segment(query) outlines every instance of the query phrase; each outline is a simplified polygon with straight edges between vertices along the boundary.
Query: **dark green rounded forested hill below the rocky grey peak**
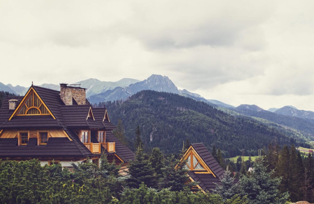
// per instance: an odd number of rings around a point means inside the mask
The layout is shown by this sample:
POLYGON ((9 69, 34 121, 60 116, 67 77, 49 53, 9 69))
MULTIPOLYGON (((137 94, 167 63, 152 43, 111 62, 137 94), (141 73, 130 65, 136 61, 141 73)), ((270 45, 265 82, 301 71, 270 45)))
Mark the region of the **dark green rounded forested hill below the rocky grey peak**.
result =
POLYGON ((138 125, 145 147, 159 147, 165 153, 178 152, 187 139, 191 143, 203 142, 208 149, 215 145, 223 150, 225 157, 239 155, 242 150, 257 155, 258 149, 267 147, 273 140, 279 145, 307 146, 305 140, 284 135, 252 118, 227 115, 178 94, 144 90, 125 102, 107 102, 106 107, 113 124, 122 120, 131 148, 138 125))

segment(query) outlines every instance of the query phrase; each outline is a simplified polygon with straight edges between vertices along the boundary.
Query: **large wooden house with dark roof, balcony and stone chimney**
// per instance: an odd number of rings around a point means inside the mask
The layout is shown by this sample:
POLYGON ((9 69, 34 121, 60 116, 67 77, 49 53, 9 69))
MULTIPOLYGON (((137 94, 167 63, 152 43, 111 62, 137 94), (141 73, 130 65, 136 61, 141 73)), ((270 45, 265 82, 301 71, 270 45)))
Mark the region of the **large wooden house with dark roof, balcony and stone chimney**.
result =
POLYGON ((106 108, 93 108, 86 89, 60 84, 60 91, 32 86, 8 96, 0 109, 0 159, 39 159, 41 164, 108 160, 125 166, 134 153, 111 132, 106 108))

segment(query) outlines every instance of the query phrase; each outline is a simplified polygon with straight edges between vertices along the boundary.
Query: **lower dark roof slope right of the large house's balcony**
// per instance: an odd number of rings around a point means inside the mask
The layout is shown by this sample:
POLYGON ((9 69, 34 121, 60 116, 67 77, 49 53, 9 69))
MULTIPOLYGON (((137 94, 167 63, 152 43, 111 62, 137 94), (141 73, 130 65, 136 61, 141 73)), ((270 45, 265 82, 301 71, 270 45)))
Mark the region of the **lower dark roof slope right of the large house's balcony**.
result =
POLYGON ((124 161, 134 160, 135 154, 127 148, 111 131, 106 132, 106 141, 116 143, 116 154, 124 161))

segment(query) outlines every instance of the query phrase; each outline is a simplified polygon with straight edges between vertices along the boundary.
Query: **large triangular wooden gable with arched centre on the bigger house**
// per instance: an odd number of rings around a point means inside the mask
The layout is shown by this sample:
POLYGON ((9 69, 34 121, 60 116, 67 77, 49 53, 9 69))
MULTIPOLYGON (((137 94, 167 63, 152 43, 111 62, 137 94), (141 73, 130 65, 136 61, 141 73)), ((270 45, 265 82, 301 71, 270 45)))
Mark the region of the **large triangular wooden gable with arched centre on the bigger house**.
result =
POLYGON ((10 116, 9 121, 16 115, 51 115, 53 119, 56 119, 32 86, 10 116))

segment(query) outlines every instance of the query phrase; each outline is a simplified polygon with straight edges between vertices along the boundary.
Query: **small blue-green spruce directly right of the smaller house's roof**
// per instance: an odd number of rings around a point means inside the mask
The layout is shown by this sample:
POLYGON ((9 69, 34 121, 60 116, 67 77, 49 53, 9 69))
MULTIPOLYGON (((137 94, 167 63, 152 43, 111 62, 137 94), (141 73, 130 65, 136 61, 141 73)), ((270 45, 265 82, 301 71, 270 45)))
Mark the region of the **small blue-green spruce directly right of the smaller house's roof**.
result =
POLYGON ((216 184, 216 188, 214 189, 214 193, 218 193, 223 198, 223 201, 232 198, 236 194, 234 178, 230 174, 231 172, 227 167, 223 177, 220 179, 221 184, 216 184))

